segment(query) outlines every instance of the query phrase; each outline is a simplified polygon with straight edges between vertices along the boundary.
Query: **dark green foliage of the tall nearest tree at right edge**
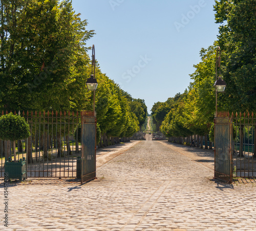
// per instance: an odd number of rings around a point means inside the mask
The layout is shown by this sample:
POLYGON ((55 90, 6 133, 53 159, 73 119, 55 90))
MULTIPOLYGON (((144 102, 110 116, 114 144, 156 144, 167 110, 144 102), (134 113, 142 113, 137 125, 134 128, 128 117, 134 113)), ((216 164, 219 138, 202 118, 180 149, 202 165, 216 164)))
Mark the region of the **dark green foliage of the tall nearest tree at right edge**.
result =
POLYGON ((256 2, 216 1, 215 18, 220 23, 219 44, 223 51, 223 79, 227 83, 226 110, 256 109, 256 2))

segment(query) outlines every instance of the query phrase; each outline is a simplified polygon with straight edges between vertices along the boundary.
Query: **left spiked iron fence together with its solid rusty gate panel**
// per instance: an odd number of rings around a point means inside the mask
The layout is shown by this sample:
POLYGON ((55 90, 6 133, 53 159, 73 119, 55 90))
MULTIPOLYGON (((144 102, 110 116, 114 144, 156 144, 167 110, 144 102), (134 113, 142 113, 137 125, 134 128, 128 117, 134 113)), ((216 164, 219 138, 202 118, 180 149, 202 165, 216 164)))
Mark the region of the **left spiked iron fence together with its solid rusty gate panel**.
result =
MULTIPOLYGON (((20 116, 29 123, 31 136, 17 141, 15 154, 17 159, 26 158, 27 177, 79 178, 82 175, 82 182, 95 178, 96 117, 93 111, 27 111, 20 116)), ((5 143, 0 141, 0 178, 4 177, 8 159, 5 143)))

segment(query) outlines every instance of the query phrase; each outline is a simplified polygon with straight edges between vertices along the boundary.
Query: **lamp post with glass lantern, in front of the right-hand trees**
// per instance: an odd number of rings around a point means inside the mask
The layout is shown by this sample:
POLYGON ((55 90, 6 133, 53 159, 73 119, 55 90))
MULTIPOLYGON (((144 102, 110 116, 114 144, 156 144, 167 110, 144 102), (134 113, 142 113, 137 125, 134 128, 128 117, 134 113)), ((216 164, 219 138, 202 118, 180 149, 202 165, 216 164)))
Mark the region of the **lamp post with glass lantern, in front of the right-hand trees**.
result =
POLYGON ((217 117, 217 96, 218 93, 223 93, 226 87, 226 82, 220 77, 221 74, 221 49, 220 47, 217 48, 217 54, 216 54, 216 65, 215 65, 215 83, 214 87, 216 89, 216 115, 217 117), (218 56, 219 55, 219 56, 218 56), (218 67, 219 67, 219 77, 218 77, 218 67))

